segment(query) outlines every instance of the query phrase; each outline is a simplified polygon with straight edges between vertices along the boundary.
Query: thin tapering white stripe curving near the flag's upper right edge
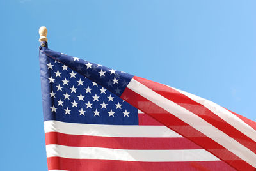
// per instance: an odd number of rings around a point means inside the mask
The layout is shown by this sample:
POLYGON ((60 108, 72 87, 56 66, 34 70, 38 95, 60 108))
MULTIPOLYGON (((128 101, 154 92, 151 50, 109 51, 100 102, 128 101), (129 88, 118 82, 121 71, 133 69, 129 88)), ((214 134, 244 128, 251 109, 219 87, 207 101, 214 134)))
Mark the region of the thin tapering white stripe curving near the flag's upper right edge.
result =
POLYGON ((182 91, 179 89, 175 89, 175 90, 188 96, 189 98, 196 101, 197 103, 204 105, 206 108, 211 110, 211 112, 218 115, 218 117, 220 117, 230 125, 234 126, 234 128, 241 131, 241 133, 244 133, 244 135, 247 135, 247 137, 250 137, 252 140, 256 142, 256 131, 251 126, 246 124, 242 119, 240 119, 236 115, 229 112, 227 109, 221 107, 220 105, 217 105, 216 103, 213 103, 212 101, 206 100, 204 98, 200 98, 199 96, 188 93, 186 91, 182 91))

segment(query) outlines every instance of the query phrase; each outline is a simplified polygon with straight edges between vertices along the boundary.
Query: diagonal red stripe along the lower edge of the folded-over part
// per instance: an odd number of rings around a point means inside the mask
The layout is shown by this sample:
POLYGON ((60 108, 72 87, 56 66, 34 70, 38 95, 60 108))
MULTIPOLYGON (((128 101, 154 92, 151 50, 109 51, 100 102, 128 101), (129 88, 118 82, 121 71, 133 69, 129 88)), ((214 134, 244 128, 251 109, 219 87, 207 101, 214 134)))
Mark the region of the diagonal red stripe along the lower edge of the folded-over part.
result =
POLYGON ((251 165, 241 160, 241 158, 237 157, 220 144, 214 142, 211 138, 206 137, 204 134, 195 130, 195 128, 184 123, 184 121, 180 120, 178 117, 175 117, 175 115, 168 113, 163 108, 158 107, 156 104, 143 98, 143 96, 140 96, 140 94, 131 91, 131 89, 126 88, 121 98, 183 137, 189 138, 189 140, 200 145, 237 170, 255 170, 251 165))

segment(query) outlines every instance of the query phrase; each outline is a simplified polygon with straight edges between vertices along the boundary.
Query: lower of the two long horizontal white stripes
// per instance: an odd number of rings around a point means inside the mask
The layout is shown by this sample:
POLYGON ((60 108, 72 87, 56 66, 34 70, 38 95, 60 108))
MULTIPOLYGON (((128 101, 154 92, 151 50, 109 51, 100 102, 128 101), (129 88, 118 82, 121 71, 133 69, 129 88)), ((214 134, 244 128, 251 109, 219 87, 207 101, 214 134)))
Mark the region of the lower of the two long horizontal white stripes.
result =
POLYGON ((100 147, 68 147, 46 145, 47 158, 58 156, 74 159, 105 159, 123 161, 219 161, 204 149, 189 150, 124 150, 100 147))

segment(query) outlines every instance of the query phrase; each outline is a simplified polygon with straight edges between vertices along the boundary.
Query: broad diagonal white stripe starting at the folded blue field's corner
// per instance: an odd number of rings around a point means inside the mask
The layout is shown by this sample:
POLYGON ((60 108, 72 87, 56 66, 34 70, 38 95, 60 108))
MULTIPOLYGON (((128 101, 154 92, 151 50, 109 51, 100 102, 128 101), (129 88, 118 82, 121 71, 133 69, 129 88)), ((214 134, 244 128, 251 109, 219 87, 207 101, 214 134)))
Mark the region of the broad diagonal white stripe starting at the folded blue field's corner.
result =
POLYGON ((190 126, 200 131, 201 133, 204 133, 204 135, 211 138, 215 142, 218 142, 218 144, 222 145, 230 152, 233 152, 234 154, 239 156, 239 158, 246 161, 253 167, 256 167, 256 155, 252 151, 250 151, 250 149, 239 144, 239 142, 229 137, 222 131, 218 130, 211 124, 207 123, 206 121, 204 121, 204 119, 198 117, 189 110, 186 110, 186 108, 180 107, 180 105, 177 105, 173 101, 164 98, 160 94, 152 91, 151 89, 134 79, 129 82, 127 87, 132 91, 140 94, 144 98, 152 101, 164 110, 175 115, 185 123, 188 123, 190 126))

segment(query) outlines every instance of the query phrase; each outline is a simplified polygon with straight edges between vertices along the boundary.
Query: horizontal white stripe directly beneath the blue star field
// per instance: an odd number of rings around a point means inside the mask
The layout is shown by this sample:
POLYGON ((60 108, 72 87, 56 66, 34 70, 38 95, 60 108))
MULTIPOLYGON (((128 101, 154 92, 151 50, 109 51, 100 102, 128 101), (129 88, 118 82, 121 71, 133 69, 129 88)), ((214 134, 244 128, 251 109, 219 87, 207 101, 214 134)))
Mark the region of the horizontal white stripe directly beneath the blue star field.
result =
POLYGON ((104 137, 182 137, 166 126, 77 124, 61 121, 45 121, 44 131, 104 137))

